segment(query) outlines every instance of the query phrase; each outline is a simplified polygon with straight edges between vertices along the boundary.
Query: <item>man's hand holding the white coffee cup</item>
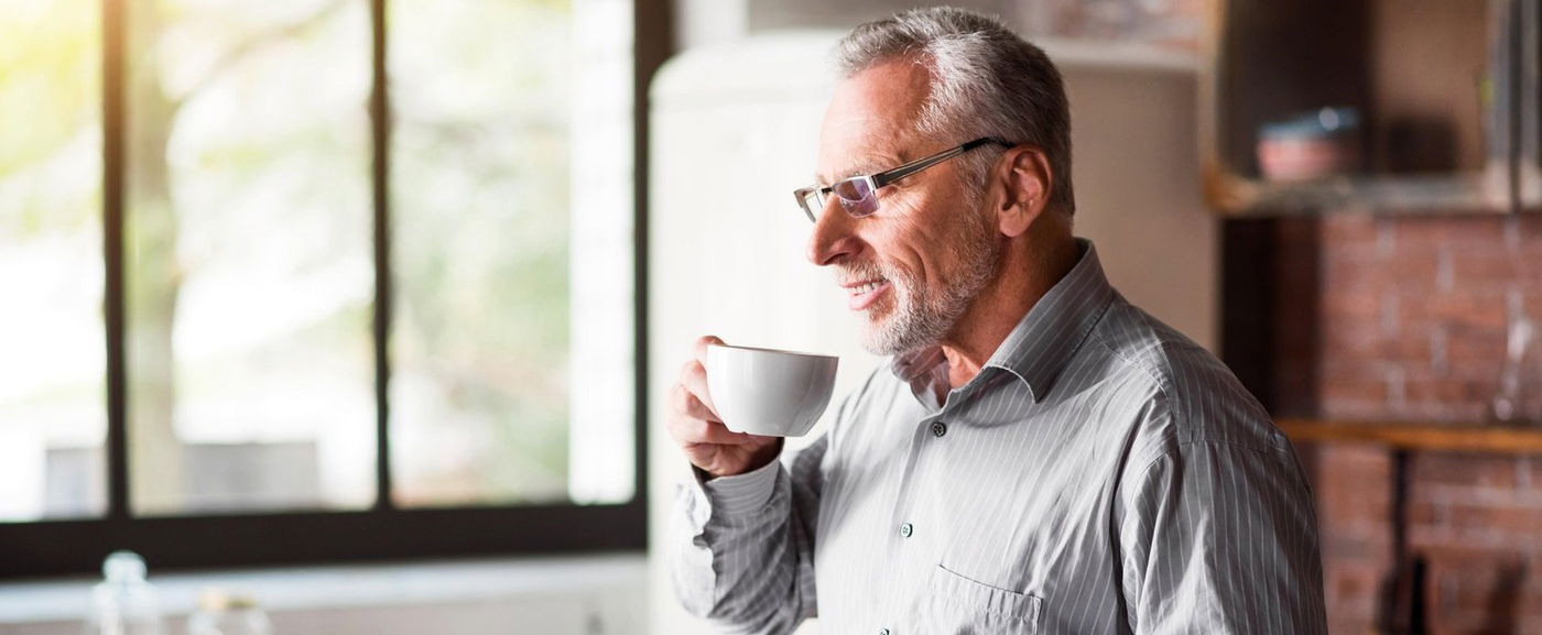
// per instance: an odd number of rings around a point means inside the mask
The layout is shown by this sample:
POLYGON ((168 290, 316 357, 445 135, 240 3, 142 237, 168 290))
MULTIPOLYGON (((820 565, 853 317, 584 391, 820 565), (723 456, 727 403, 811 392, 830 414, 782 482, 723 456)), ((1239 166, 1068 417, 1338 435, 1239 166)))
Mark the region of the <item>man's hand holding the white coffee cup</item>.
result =
POLYGON ((722 339, 705 336, 695 341, 695 359, 680 368, 680 381, 669 388, 669 436, 685 450, 686 459, 712 478, 752 472, 782 453, 782 438, 731 432, 717 418, 712 396, 706 390, 708 344, 722 339))

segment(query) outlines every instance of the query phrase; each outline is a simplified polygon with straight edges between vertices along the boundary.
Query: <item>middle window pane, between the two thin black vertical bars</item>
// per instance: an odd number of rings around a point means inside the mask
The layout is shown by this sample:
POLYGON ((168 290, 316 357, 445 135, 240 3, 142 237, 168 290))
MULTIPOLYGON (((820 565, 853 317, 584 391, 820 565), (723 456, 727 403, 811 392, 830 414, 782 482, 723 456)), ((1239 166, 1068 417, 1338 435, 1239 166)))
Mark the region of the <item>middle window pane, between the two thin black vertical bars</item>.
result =
POLYGON ((137 0, 126 40, 134 510, 369 506, 369 5, 137 0))

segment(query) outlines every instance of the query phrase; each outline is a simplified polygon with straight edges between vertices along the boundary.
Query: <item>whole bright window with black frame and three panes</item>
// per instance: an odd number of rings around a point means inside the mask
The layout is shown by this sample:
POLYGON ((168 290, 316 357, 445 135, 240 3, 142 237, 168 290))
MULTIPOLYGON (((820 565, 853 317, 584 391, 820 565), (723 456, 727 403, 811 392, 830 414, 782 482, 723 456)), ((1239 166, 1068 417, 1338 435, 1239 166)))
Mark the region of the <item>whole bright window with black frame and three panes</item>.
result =
POLYGON ((658 17, 0 12, 0 576, 645 544, 658 17))

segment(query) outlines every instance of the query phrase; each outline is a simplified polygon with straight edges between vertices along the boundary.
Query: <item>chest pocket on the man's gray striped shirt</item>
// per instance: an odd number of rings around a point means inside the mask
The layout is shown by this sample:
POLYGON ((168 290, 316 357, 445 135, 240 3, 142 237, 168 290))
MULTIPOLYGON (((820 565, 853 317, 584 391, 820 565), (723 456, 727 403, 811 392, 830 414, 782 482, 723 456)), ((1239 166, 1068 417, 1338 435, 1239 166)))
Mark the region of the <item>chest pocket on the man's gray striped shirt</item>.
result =
POLYGON ((927 583, 927 596, 917 603, 917 621, 925 633, 985 635, 1036 633, 1042 600, 1029 593, 996 589, 958 575, 938 564, 927 583))

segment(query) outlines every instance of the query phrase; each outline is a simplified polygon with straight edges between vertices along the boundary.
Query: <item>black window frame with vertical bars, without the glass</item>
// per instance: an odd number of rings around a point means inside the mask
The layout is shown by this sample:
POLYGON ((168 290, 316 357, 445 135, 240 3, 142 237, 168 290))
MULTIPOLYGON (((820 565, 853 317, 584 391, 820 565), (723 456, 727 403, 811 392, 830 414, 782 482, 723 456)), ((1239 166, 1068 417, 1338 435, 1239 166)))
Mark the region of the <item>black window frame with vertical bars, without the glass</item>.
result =
POLYGON ((375 254, 376 498, 365 510, 130 515, 125 322, 125 3, 102 0, 103 297, 106 325, 106 515, 0 522, 0 580, 100 570, 131 549, 154 570, 643 550, 648 544, 648 85, 672 49, 672 3, 632 0, 634 495, 621 504, 401 509, 390 499, 390 103, 387 0, 367 0, 372 31, 370 139, 375 254))

